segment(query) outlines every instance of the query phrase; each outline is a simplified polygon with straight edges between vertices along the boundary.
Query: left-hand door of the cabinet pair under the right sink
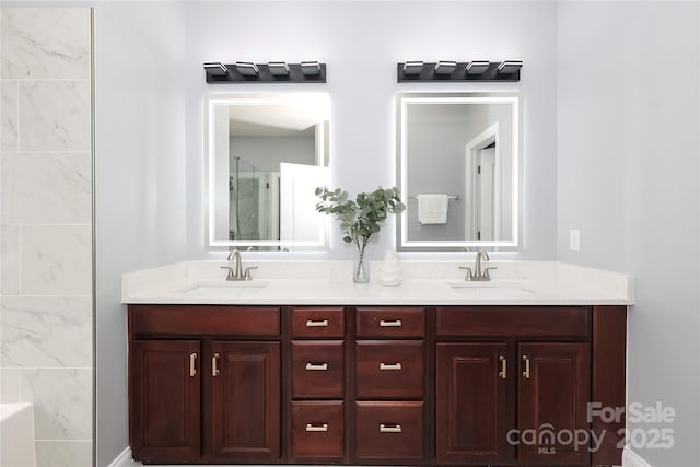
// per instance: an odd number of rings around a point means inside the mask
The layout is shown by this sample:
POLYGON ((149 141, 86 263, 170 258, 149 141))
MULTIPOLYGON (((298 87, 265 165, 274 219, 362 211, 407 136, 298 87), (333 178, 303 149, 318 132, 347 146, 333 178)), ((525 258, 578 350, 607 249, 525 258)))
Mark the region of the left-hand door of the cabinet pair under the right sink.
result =
POLYGON ((438 343, 438 464, 494 464, 513 458, 506 442, 506 345, 438 343))

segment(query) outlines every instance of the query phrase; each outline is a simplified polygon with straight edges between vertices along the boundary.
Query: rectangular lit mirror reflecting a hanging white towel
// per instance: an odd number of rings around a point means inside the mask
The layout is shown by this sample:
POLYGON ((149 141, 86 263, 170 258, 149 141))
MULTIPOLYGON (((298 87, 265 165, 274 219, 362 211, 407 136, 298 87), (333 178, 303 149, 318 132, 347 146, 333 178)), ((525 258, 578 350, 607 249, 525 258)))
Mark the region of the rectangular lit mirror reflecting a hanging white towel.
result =
POLYGON ((520 115, 515 94, 397 96, 397 249, 517 247, 520 115))

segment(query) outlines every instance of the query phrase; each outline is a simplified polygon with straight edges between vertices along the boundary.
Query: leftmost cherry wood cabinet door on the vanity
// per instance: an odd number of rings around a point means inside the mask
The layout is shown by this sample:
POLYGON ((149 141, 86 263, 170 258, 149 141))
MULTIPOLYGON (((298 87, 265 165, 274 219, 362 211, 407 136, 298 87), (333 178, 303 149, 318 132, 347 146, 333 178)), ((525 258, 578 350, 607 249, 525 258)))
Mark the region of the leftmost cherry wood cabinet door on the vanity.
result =
POLYGON ((133 458, 161 463, 200 456, 200 343, 135 340, 129 353, 133 458))

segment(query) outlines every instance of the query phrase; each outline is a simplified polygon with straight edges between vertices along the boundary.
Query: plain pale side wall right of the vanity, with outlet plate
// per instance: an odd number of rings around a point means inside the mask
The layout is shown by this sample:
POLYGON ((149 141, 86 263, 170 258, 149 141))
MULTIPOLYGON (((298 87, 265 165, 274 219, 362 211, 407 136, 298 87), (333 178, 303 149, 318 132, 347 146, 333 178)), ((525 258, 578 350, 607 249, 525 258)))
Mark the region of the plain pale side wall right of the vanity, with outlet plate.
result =
POLYGON ((562 2, 558 24, 558 258, 637 277, 628 404, 677 417, 672 450, 633 451, 698 466, 700 3, 562 2))

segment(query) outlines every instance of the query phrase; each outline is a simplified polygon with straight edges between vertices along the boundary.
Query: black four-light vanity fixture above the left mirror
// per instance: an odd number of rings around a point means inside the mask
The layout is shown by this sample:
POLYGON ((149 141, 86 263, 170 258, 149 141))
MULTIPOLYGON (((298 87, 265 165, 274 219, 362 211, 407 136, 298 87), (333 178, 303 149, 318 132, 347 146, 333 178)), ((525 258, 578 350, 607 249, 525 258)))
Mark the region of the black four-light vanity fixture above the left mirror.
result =
POLYGON ((302 61, 301 63, 236 61, 232 65, 208 61, 203 63, 203 67, 208 83, 326 82, 326 63, 317 61, 302 61))

